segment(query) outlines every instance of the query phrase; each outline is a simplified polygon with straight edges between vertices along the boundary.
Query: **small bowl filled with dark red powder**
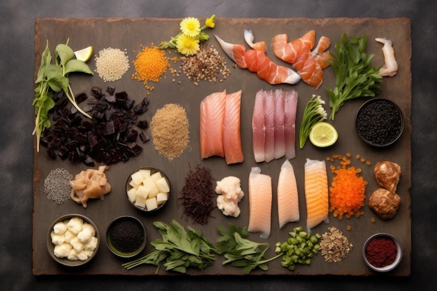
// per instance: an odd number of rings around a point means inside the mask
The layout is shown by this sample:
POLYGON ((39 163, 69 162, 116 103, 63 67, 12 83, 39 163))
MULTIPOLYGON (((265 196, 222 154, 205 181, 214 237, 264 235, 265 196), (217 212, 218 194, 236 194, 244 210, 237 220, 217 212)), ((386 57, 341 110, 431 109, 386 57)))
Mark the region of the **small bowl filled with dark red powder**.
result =
POLYGON ((364 243, 362 256, 374 271, 392 271, 402 260, 402 246, 392 234, 377 233, 364 243))

